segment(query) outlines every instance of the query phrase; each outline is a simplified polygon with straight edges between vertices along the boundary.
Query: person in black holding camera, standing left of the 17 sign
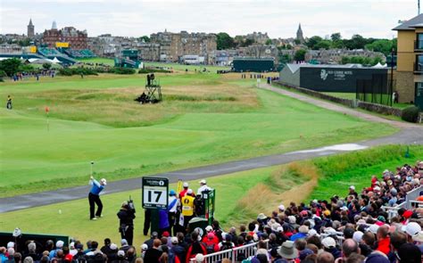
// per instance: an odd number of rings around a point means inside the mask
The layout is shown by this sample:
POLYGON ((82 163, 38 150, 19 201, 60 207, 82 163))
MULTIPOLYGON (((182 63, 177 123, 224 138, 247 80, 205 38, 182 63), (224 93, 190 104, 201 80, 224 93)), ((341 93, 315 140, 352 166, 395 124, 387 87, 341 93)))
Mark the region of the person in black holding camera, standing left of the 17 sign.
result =
POLYGON ((132 245, 134 239, 135 207, 132 201, 124 201, 118 212, 119 232, 122 239, 126 239, 132 245))

